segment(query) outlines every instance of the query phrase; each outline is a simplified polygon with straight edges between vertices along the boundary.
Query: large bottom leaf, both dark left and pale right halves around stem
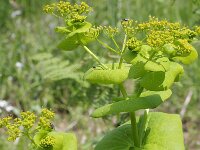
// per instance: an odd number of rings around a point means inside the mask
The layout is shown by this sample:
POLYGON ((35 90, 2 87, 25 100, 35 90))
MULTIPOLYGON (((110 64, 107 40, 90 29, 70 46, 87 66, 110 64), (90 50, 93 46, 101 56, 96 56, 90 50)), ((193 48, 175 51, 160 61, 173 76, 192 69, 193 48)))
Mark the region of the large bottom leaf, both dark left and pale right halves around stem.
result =
POLYGON ((146 138, 135 147, 130 124, 107 133, 95 150, 184 150, 182 124, 179 115, 149 113, 146 138))

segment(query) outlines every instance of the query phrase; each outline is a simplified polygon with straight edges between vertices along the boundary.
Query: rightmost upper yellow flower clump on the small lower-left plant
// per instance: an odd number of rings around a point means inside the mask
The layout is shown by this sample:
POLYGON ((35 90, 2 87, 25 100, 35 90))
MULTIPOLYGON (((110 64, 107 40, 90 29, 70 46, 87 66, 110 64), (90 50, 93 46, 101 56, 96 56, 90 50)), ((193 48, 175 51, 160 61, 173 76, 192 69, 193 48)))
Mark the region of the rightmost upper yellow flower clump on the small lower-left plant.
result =
POLYGON ((52 130, 51 120, 54 118, 54 116, 55 116, 54 112, 44 108, 39 118, 38 128, 44 130, 52 130))

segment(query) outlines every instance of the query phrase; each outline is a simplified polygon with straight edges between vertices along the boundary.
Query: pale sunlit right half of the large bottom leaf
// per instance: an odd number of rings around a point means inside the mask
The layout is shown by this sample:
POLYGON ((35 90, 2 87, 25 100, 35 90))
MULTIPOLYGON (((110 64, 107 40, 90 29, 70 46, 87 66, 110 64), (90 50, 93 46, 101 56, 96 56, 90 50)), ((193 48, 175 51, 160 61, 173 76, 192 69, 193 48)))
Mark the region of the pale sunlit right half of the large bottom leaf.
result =
POLYGON ((184 150, 182 123, 179 115, 150 113, 149 134, 144 150, 184 150))

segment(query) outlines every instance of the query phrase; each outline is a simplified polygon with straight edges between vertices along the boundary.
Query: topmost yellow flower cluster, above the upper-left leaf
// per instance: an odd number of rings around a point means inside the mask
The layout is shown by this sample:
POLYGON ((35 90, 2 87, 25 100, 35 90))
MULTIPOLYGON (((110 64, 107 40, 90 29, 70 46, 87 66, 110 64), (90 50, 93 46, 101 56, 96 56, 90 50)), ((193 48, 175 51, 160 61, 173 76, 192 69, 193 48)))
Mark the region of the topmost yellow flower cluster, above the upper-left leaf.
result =
POLYGON ((83 14, 88 14, 92 11, 92 8, 85 2, 82 2, 80 5, 72 5, 70 2, 60 1, 58 3, 46 5, 44 11, 57 17, 62 17, 65 21, 84 22, 87 16, 84 16, 83 14))

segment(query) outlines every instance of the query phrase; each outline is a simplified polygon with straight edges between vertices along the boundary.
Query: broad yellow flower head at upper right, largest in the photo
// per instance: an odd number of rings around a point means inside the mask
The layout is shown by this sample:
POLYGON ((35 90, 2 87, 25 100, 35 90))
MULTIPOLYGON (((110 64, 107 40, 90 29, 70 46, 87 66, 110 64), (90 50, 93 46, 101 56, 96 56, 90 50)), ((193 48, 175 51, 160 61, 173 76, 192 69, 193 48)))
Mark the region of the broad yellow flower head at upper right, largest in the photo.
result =
MULTIPOLYGON (((174 45, 174 56, 186 56, 189 55, 192 46, 189 42, 200 35, 200 27, 195 27, 195 30, 191 30, 186 26, 181 26, 180 23, 171 23, 167 20, 158 20, 155 17, 149 17, 147 22, 134 23, 132 20, 125 20, 121 22, 122 27, 127 29, 134 27, 134 32, 126 43, 126 46, 130 50, 136 51, 136 48, 143 44, 148 44, 153 49, 162 51, 165 44, 174 45), (143 38, 137 38, 137 36, 143 38)), ((127 34, 127 32, 125 31, 127 34)), ((128 35, 128 34, 127 34, 128 35)))

